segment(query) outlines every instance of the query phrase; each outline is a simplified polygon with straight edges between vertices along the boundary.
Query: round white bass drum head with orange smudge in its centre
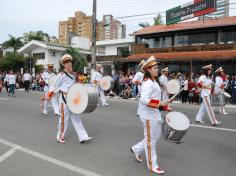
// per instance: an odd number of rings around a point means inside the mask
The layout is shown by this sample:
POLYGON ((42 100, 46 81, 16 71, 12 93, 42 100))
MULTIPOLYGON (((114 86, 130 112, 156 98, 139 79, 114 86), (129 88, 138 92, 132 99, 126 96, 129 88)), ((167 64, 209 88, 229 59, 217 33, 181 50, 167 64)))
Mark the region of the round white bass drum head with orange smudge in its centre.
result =
POLYGON ((96 90, 89 84, 74 84, 67 92, 67 106, 75 114, 83 113, 89 101, 89 93, 96 93, 96 90))

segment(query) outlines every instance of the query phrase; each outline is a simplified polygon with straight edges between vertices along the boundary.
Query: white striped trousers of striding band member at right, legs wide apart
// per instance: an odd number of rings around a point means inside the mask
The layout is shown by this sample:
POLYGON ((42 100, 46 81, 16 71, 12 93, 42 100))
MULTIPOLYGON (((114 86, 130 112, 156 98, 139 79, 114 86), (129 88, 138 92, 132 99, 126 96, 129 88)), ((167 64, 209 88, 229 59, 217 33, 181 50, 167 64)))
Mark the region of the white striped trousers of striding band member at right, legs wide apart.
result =
POLYGON ((208 117, 212 124, 216 124, 217 120, 215 118, 214 111, 211 107, 210 97, 205 96, 202 98, 202 104, 196 116, 196 121, 202 121, 204 118, 205 113, 207 112, 208 117))

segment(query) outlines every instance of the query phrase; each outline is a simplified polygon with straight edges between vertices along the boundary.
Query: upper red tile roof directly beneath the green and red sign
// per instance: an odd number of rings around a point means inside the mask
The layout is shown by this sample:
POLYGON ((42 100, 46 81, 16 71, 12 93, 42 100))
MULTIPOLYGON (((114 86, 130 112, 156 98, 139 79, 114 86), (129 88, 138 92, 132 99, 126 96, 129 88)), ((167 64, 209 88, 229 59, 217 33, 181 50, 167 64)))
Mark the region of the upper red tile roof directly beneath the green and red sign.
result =
POLYGON ((204 20, 204 21, 183 22, 171 25, 151 26, 137 31, 135 35, 162 33, 162 32, 179 31, 187 29, 209 28, 218 26, 231 26, 231 25, 236 25, 236 16, 204 20))

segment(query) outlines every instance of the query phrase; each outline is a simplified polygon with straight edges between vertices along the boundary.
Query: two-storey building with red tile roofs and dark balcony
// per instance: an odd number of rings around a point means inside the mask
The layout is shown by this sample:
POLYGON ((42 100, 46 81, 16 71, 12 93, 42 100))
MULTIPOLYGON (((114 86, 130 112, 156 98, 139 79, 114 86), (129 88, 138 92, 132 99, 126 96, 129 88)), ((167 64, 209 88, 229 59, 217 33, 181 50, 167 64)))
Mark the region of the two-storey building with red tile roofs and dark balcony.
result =
POLYGON ((135 33, 132 55, 124 61, 137 64, 154 55, 170 72, 199 72, 206 64, 235 73, 236 16, 204 21, 158 25, 135 33))

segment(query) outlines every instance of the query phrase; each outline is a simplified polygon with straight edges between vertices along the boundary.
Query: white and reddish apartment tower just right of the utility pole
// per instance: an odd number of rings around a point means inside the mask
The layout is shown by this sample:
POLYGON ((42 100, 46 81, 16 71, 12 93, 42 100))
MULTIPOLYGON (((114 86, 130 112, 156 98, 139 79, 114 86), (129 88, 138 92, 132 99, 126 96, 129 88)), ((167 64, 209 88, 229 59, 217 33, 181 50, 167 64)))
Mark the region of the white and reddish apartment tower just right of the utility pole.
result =
POLYGON ((126 26, 115 20, 112 15, 103 15, 103 21, 99 22, 98 26, 100 40, 126 38, 126 26))

